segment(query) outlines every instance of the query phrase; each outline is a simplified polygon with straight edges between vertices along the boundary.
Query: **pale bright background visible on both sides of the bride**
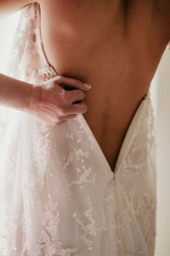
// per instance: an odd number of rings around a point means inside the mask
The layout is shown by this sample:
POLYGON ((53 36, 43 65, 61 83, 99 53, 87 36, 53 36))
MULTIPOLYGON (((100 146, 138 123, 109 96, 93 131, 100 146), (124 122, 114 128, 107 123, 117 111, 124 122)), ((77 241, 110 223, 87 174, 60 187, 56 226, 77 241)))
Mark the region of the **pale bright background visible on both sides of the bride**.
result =
MULTIPOLYGON (((9 49, 20 12, 0 20, 0 73, 5 73, 9 49)), ((156 114, 157 219, 156 254, 170 255, 170 51, 161 58, 151 83, 151 99, 156 114)))

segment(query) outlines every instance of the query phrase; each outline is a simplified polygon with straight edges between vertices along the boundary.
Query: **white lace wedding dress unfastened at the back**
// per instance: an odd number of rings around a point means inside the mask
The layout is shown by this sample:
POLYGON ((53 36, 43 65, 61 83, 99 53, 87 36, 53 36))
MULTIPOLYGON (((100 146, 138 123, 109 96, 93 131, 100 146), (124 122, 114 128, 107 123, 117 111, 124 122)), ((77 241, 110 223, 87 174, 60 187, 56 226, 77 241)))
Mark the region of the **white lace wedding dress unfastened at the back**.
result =
MULTIPOLYGON (((42 49, 40 10, 22 10, 8 75, 56 76, 42 49), (34 61, 32 61, 34 60, 34 61)), ((150 93, 111 172, 82 114, 54 126, 0 108, 0 256, 151 256, 156 155, 150 93)))

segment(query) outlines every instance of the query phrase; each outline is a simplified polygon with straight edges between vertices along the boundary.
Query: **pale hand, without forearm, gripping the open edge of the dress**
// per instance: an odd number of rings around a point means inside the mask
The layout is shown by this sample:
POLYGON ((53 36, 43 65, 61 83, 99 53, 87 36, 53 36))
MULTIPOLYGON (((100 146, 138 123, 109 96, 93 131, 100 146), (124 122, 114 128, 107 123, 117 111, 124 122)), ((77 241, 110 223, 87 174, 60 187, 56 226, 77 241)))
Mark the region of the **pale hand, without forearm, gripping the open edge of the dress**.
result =
POLYGON ((29 113, 48 124, 60 125, 88 111, 83 100, 86 96, 84 91, 89 88, 89 84, 60 75, 33 85, 29 113))

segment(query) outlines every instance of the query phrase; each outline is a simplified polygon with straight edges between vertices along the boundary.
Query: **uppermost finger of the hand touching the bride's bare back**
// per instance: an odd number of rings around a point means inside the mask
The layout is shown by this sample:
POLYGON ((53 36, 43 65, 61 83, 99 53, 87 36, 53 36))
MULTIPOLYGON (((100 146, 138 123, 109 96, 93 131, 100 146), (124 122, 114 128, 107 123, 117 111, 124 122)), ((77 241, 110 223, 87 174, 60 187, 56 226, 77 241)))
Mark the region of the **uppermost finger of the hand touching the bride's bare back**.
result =
POLYGON ((77 79, 71 79, 65 76, 56 76, 54 77, 54 81, 61 85, 61 87, 65 87, 64 89, 68 87, 69 89, 80 89, 80 90, 88 90, 90 89, 90 84, 82 83, 82 81, 77 79))

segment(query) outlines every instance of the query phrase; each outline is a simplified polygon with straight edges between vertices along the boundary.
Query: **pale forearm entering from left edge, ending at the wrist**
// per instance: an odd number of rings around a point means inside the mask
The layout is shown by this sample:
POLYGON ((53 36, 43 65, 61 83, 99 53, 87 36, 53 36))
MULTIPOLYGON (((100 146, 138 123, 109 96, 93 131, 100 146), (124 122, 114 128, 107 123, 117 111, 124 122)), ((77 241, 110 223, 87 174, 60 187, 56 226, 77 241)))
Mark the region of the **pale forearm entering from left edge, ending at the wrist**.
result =
POLYGON ((27 111, 30 105, 32 84, 0 73, 0 105, 27 111))

